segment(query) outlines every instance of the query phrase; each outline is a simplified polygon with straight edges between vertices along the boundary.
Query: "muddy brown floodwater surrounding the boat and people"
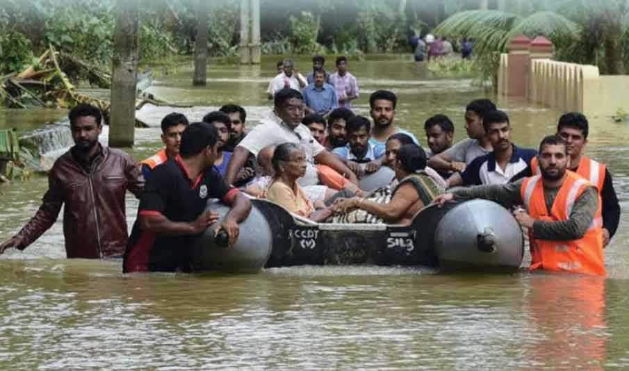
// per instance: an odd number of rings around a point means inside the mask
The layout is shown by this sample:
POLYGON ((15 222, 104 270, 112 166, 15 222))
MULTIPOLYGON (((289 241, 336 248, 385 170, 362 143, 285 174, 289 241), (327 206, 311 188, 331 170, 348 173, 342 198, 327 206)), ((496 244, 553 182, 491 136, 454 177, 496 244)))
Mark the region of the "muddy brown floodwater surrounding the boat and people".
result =
MULTIPOLYGON (((150 92, 193 108, 145 106, 133 158, 160 147, 161 118, 190 121, 222 104, 254 125, 270 108, 275 59, 257 67, 212 65, 191 85, 192 63, 158 69, 150 92), (168 72, 165 74, 164 72, 168 72)), ((327 61, 327 66, 333 63, 327 61)), ((297 60, 307 72, 308 60, 297 60)), ((491 94, 470 79, 440 79, 404 58, 349 64, 368 115, 378 89, 398 94, 395 122, 425 145, 423 122, 445 113, 466 137, 464 107, 491 94)), ((503 101, 512 140, 537 147, 557 110, 503 101)), ((34 129, 64 110, 0 110, 0 128, 34 129)), ((103 140, 106 142, 107 128, 103 140)), ((605 249, 605 279, 553 274, 439 274, 402 267, 290 267, 259 274, 138 274, 120 261, 66 260, 61 218, 24 252, 0 257, 0 369, 603 370, 629 368, 629 126, 590 117, 586 153, 606 163, 621 223, 605 249)), ((0 186, 0 240, 31 217, 47 180, 0 186)), ((138 201, 127 196, 129 228, 138 201)))

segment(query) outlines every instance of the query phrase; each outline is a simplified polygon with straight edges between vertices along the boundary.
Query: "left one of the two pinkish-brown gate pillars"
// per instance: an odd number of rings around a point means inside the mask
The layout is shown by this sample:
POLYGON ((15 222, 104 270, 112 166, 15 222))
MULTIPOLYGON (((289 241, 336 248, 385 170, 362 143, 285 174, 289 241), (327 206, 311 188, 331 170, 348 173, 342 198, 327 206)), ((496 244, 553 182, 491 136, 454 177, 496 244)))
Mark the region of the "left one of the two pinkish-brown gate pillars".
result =
POLYGON ((530 56, 528 46, 531 39, 526 35, 519 35, 509 40, 507 44, 507 81, 506 92, 508 97, 525 98, 528 89, 528 74, 530 68, 530 56))

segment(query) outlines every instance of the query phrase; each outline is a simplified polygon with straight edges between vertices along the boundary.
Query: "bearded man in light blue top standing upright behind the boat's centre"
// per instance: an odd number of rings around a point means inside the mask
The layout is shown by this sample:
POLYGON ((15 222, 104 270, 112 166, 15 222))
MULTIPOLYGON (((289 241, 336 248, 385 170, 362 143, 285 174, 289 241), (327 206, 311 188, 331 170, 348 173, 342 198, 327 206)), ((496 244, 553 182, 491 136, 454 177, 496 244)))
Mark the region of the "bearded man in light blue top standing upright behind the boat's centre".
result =
POLYGON ((369 142, 374 145, 378 152, 384 154, 386 140, 395 133, 404 133, 419 145, 413 133, 393 126, 395 117, 395 106, 398 104, 398 97, 389 90, 376 90, 369 97, 370 115, 373 119, 373 130, 369 142))

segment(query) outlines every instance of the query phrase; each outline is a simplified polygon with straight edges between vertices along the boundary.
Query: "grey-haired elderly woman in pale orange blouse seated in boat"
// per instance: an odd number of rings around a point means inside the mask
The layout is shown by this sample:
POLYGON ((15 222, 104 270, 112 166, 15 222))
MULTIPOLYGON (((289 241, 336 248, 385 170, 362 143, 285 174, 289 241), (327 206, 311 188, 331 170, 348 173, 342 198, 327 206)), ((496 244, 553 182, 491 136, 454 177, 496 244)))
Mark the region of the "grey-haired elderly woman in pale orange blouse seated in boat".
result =
POLYGON ((334 213, 334 205, 316 211, 297 183, 297 179, 306 174, 306 153, 302 148, 293 143, 278 145, 273 151, 271 163, 275 174, 266 190, 266 199, 314 222, 323 222, 334 213))

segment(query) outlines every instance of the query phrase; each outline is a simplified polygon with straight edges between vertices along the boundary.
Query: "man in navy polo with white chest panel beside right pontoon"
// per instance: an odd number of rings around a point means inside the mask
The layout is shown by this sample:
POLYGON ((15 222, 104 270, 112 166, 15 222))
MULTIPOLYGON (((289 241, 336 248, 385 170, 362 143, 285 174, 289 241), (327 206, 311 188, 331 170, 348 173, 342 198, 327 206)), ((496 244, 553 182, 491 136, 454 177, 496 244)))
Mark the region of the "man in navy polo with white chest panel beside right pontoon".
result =
POLYGON ((493 151, 475 158, 464 172, 452 174, 448 187, 506 184, 537 154, 534 149, 519 148, 511 142, 511 124, 503 111, 485 113, 482 124, 493 151))

